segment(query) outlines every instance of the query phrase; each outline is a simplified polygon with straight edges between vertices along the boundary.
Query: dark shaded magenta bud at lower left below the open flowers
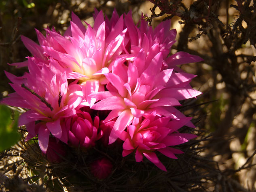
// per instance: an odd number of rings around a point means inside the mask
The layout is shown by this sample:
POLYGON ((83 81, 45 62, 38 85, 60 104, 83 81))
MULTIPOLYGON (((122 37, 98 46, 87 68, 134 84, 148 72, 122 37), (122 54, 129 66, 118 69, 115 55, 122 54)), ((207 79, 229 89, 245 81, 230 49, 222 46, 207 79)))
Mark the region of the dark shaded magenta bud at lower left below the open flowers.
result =
POLYGON ((46 157, 50 162, 59 163, 62 161, 62 157, 66 155, 66 150, 61 141, 57 141, 56 138, 50 137, 49 145, 46 151, 46 157), (62 157, 61 157, 62 156, 62 157))

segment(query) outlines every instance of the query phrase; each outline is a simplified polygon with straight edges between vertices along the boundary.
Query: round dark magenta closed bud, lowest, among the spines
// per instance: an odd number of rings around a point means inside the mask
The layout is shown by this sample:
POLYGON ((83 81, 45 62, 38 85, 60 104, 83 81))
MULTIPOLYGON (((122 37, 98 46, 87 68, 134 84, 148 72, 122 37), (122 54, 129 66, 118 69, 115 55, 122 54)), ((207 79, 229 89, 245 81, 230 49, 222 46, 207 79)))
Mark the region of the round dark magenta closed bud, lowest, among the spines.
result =
POLYGON ((91 163, 91 173, 98 179, 106 179, 112 172, 112 168, 112 162, 105 157, 91 163))

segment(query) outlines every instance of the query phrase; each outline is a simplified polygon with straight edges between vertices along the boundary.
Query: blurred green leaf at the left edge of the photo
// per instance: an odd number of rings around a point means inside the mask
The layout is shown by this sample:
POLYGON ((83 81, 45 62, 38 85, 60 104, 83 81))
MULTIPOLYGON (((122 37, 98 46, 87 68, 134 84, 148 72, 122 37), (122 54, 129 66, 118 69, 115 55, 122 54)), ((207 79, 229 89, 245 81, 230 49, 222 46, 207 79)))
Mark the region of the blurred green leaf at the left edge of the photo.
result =
POLYGON ((19 113, 0 105, 0 151, 11 148, 21 138, 18 133, 19 113), (12 118, 13 116, 13 118, 12 118))

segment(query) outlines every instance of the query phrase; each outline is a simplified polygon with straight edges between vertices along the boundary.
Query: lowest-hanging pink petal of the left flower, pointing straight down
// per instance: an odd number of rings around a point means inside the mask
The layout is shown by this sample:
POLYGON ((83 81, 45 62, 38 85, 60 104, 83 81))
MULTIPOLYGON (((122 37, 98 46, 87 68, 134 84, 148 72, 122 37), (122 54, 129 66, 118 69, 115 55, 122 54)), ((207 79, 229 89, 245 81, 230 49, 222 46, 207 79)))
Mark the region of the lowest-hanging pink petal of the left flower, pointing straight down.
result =
POLYGON ((38 130, 38 143, 39 147, 44 154, 47 152, 48 143, 49 143, 49 134, 50 131, 45 124, 42 124, 38 130))

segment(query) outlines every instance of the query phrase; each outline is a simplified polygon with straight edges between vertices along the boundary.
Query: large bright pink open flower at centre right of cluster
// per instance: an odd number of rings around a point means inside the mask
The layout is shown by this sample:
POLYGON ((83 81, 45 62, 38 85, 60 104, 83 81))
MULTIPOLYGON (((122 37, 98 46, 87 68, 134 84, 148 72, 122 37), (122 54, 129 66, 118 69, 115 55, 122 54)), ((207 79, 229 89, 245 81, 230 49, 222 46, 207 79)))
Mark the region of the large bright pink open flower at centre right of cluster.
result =
MULTIPOLYGON (((158 45, 154 47, 157 49, 158 45)), ((159 116, 177 119, 167 107, 180 105, 180 100, 201 94, 189 85, 194 75, 174 73, 172 68, 162 70, 161 52, 155 53, 152 49, 147 54, 141 49, 136 57, 128 60, 128 66, 124 61, 116 59, 112 72, 105 74, 110 81, 107 84, 108 91, 90 95, 100 100, 92 109, 112 110, 104 122, 117 117, 109 143, 117 139, 115 132, 124 131, 134 117, 140 118, 144 113, 156 111, 159 116)))

